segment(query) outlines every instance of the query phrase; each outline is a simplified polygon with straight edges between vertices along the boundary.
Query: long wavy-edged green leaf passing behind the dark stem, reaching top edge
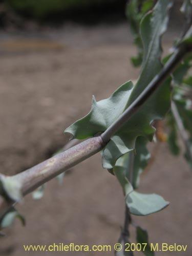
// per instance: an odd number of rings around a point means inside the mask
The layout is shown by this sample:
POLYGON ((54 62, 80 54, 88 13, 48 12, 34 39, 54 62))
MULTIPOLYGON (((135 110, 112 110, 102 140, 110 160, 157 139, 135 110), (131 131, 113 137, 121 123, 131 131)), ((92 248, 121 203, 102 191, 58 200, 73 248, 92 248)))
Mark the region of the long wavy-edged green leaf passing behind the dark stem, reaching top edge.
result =
MULTIPOLYGON (((165 10, 169 7, 169 2, 159 1, 154 11, 146 14, 141 21, 140 32, 144 46, 143 63, 140 77, 131 92, 127 106, 140 95, 162 69, 160 37, 166 29, 168 18, 165 10)), ((116 159, 133 150, 138 136, 152 140, 155 129, 151 124, 154 120, 162 119, 169 107, 170 78, 143 104, 142 109, 111 138, 103 150, 103 167, 112 168, 116 159)))

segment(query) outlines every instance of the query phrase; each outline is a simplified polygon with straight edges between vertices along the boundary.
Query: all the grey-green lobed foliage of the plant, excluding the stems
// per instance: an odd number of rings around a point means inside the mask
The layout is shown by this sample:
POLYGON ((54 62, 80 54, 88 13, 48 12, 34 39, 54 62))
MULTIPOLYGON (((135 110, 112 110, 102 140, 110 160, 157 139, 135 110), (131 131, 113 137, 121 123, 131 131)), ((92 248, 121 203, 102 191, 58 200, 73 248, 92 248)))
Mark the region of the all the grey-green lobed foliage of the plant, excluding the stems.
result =
MULTIPOLYGON (((135 85, 131 80, 125 82, 107 99, 97 102, 93 96, 91 111, 65 130, 65 133, 72 135, 72 139, 87 139, 105 132, 141 95, 148 84, 154 78, 158 78, 163 65, 175 56, 174 52, 179 49, 178 46, 187 48, 192 44, 192 26, 189 26, 192 19, 192 3, 185 0, 181 10, 186 17, 187 29, 176 40, 173 53, 162 60, 161 37, 167 28, 168 10, 171 6, 170 1, 166 0, 159 0, 155 6, 151 0, 142 3, 139 0, 132 0, 127 5, 126 12, 138 47, 138 56, 132 58, 132 62, 135 66, 141 65, 139 78, 135 85)), ((144 101, 142 108, 138 109, 129 121, 119 127, 102 150, 102 166, 115 175, 123 190, 127 210, 125 220, 129 220, 129 224, 135 226, 137 242, 147 244, 143 253, 148 256, 154 255, 148 245, 148 234, 146 230, 133 223, 131 214, 150 215, 162 210, 169 203, 157 194, 143 194, 136 189, 139 187, 140 174, 150 159, 147 143, 154 139, 156 129, 153 124, 165 116, 169 129, 167 142, 170 150, 174 155, 181 152, 178 134, 184 132, 184 155, 192 168, 192 110, 189 97, 192 92, 192 77, 189 75, 191 57, 191 54, 185 57, 172 76, 167 75, 161 87, 144 101)), ((61 176, 60 178, 62 179, 61 176)), ((1 196, 17 202, 22 198, 21 186, 22 184, 14 178, 0 175, 1 196)), ((34 198, 41 198, 42 188, 35 191, 34 198)), ((15 209, 10 208, 7 214, 0 217, 0 227, 7 227, 13 222, 14 217, 19 217, 24 223, 24 219, 15 209)), ((129 232, 125 234, 123 231, 119 238, 122 248, 125 243, 130 243, 129 232)), ((133 255, 133 252, 126 252, 123 249, 116 255, 133 255)))

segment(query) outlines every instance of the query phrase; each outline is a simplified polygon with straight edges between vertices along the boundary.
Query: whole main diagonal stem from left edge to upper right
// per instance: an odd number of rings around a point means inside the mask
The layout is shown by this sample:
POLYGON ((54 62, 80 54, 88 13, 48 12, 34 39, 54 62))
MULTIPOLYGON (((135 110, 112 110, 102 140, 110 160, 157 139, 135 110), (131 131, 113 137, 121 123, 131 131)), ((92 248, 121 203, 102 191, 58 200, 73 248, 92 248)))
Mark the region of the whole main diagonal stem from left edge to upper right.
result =
MULTIPOLYGON (((22 194, 27 195, 38 186, 62 173, 64 170, 71 168, 99 152, 121 126, 127 122, 132 115, 141 108, 142 104, 159 88, 160 84, 170 75, 183 56, 189 52, 191 48, 192 45, 180 46, 166 63, 162 71, 150 82, 150 84, 148 84, 140 96, 127 108, 127 110, 125 110, 125 112, 123 112, 117 121, 101 134, 101 136, 83 141, 76 146, 69 148, 65 152, 59 153, 54 157, 25 170, 23 173, 11 177, 0 174, 0 180, 2 176, 11 181, 19 182, 21 184, 22 194)), ((5 200, 6 199, 0 196, 0 212, 5 210, 5 200)))

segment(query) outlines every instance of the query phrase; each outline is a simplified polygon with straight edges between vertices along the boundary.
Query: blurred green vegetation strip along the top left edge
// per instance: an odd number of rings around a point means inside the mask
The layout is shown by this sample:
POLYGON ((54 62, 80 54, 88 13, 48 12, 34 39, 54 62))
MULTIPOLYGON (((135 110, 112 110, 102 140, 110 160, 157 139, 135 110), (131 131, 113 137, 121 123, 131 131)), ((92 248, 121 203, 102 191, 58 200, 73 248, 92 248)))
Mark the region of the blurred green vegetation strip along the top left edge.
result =
POLYGON ((45 19, 59 13, 67 14, 79 9, 119 6, 125 2, 125 0, 5 0, 6 5, 17 13, 36 19, 45 19))

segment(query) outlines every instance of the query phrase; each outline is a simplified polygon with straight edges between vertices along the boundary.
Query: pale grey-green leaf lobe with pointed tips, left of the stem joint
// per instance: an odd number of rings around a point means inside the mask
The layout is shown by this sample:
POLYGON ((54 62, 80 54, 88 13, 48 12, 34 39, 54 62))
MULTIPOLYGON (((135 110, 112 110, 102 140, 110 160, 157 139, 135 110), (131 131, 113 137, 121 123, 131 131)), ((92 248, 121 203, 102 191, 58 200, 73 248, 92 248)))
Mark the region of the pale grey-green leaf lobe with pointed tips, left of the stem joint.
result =
POLYGON ((65 133, 77 139, 86 139, 104 132, 123 113, 132 88, 132 81, 128 81, 108 99, 97 102, 93 96, 89 114, 69 126, 65 133))

